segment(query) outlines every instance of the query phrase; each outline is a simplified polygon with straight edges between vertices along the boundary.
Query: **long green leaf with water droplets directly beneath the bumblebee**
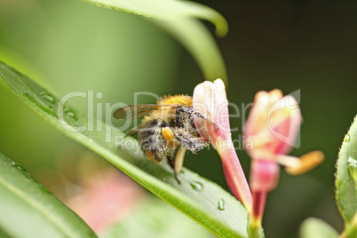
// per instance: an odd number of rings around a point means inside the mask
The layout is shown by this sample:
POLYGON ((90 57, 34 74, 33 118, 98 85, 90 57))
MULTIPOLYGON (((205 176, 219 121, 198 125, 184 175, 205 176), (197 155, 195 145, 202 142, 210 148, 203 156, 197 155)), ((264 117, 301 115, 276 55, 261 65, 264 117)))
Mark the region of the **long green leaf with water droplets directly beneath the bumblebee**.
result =
POLYGON ((149 162, 140 152, 136 139, 125 138, 125 133, 108 124, 115 107, 107 108, 107 123, 95 122, 65 102, 69 96, 87 97, 84 92, 68 93, 59 100, 28 76, 2 62, 0 76, 20 99, 59 131, 102 155, 212 233, 220 237, 247 237, 247 211, 240 202, 217 184, 192 171, 184 169, 178 175, 181 180, 178 184, 168 163, 149 162))

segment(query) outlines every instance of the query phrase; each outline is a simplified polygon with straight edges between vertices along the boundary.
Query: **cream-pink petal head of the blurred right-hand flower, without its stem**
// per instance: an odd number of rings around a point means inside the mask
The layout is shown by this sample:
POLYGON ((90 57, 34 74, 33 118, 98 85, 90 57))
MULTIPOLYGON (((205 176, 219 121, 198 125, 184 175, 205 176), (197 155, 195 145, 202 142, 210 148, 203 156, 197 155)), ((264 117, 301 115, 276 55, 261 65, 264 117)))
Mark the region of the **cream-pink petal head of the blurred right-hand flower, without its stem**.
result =
POLYGON ((273 158, 287 154, 294 146, 302 122, 298 102, 282 91, 258 91, 244 131, 245 139, 254 142, 247 150, 251 158, 273 158))

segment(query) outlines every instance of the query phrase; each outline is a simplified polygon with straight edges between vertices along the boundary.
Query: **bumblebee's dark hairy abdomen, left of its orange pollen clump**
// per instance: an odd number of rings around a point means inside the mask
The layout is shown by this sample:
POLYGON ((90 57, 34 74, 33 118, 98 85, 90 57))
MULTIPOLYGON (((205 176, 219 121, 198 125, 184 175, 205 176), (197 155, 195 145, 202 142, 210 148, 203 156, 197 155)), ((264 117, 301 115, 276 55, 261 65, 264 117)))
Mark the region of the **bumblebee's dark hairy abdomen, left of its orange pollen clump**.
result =
POLYGON ((151 161, 161 162, 170 155, 169 144, 162 134, 162 128, 167 125, 163 120, 147 121, 139 131, 140 147, 151 161))

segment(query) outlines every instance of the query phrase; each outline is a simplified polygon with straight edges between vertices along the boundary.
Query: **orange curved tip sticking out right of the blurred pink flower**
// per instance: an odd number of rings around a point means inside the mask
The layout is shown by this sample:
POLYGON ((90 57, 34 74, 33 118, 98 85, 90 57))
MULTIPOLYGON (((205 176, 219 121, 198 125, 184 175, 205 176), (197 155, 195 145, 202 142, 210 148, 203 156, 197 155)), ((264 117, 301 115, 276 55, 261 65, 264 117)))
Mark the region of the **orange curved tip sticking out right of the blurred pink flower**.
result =
POLYGON ((319 150, 312 151, 305 155, 302 155, 299 159, 300 164, 298 167, 295 166, 286 166, 285 171, 290 175, 300 175, 307 171, 311 171, 317 165, 322 163, 325 156, 319 150))

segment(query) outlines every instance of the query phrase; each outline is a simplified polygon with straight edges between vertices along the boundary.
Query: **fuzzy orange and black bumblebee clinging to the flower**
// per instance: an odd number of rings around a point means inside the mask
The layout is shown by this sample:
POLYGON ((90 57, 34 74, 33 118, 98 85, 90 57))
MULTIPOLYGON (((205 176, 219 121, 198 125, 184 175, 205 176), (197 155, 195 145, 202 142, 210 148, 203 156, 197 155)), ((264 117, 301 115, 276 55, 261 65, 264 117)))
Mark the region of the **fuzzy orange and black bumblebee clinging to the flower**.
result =
POLYGON ((138 135, 139 145, 150 161, 161 163, 167 158, 177 180, 186 149, 195 154, 209 145, 196 131, 194 117, 212 122, 207 116, 194 110, 190 96, 164 96, 157 104, 119 108, 113 116, 115 119, 126 120, 144 117, 141 124, 127 134, 138 135))

